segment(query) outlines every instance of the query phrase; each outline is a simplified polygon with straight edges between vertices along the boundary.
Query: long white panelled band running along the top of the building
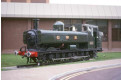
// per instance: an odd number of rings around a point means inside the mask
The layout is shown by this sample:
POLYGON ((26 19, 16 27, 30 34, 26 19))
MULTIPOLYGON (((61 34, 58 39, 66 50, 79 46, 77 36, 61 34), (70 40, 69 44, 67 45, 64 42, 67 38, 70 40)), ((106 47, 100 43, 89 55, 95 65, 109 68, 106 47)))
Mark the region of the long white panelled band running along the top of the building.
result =
POLYGON ((2 17, 121 19, 121 6, 1 3, 2 17))

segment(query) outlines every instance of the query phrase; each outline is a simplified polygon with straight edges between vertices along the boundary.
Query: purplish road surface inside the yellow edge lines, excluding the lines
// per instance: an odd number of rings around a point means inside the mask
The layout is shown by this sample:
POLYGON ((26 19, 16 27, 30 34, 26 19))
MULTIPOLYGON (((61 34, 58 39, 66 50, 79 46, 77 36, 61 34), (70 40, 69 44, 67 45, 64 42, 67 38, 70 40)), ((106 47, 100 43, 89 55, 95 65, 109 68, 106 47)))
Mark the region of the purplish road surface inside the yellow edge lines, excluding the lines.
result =
POLYGON ((121 80, 121 67, 89 72, 69 80, 121 80))

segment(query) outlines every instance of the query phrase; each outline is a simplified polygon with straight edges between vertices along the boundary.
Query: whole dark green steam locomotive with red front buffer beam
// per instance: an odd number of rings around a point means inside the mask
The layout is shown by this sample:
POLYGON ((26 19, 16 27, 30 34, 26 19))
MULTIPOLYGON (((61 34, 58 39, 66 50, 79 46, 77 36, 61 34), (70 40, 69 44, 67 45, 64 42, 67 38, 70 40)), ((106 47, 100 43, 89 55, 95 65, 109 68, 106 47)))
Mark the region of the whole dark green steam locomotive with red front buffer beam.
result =
POLYGON ((71 26, 64 31, 64 23, 57 21, 53 30, 40 30, 37 27, 38 19, 35 19, 34 29, 23 33, 23 42, 27 46, 15 51, 16 55, 27 57, 27 63, 33 60, 40 65, 47 61, 89 59, 102 51, 103 33, 98 26, 82 24, 78 29, 71 26))

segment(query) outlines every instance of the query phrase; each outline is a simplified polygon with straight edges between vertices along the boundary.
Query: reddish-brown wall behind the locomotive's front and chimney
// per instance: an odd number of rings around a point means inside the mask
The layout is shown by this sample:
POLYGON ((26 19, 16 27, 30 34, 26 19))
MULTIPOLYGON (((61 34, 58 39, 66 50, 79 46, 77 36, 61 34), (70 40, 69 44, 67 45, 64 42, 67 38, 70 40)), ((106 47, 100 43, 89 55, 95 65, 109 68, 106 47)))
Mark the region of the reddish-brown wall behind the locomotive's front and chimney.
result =
MULTIPOLYGON (((39 29, 52 29, 54 19, 40 19, 39 29)), ((2 18, 2 53, 12 53, 23 44, 23 32, 33 28, 32 19, 2 18)))

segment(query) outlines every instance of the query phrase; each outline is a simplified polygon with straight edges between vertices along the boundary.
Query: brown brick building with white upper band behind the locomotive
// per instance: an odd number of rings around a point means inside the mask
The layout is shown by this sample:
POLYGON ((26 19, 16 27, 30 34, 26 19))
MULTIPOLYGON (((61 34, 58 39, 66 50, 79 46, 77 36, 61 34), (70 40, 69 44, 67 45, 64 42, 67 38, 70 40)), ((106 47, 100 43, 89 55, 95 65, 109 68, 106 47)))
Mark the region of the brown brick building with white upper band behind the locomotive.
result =
POLYGON ((98 25, 104 32, 103 50, 121 51, 121 6, 49 4, 49 0, 1 0, 2 53, 23 46, 23 31, 33 28, 33 18, 40 19, 39 29, 52 29, 56 21, 65 27, 83 23, 98 25))

